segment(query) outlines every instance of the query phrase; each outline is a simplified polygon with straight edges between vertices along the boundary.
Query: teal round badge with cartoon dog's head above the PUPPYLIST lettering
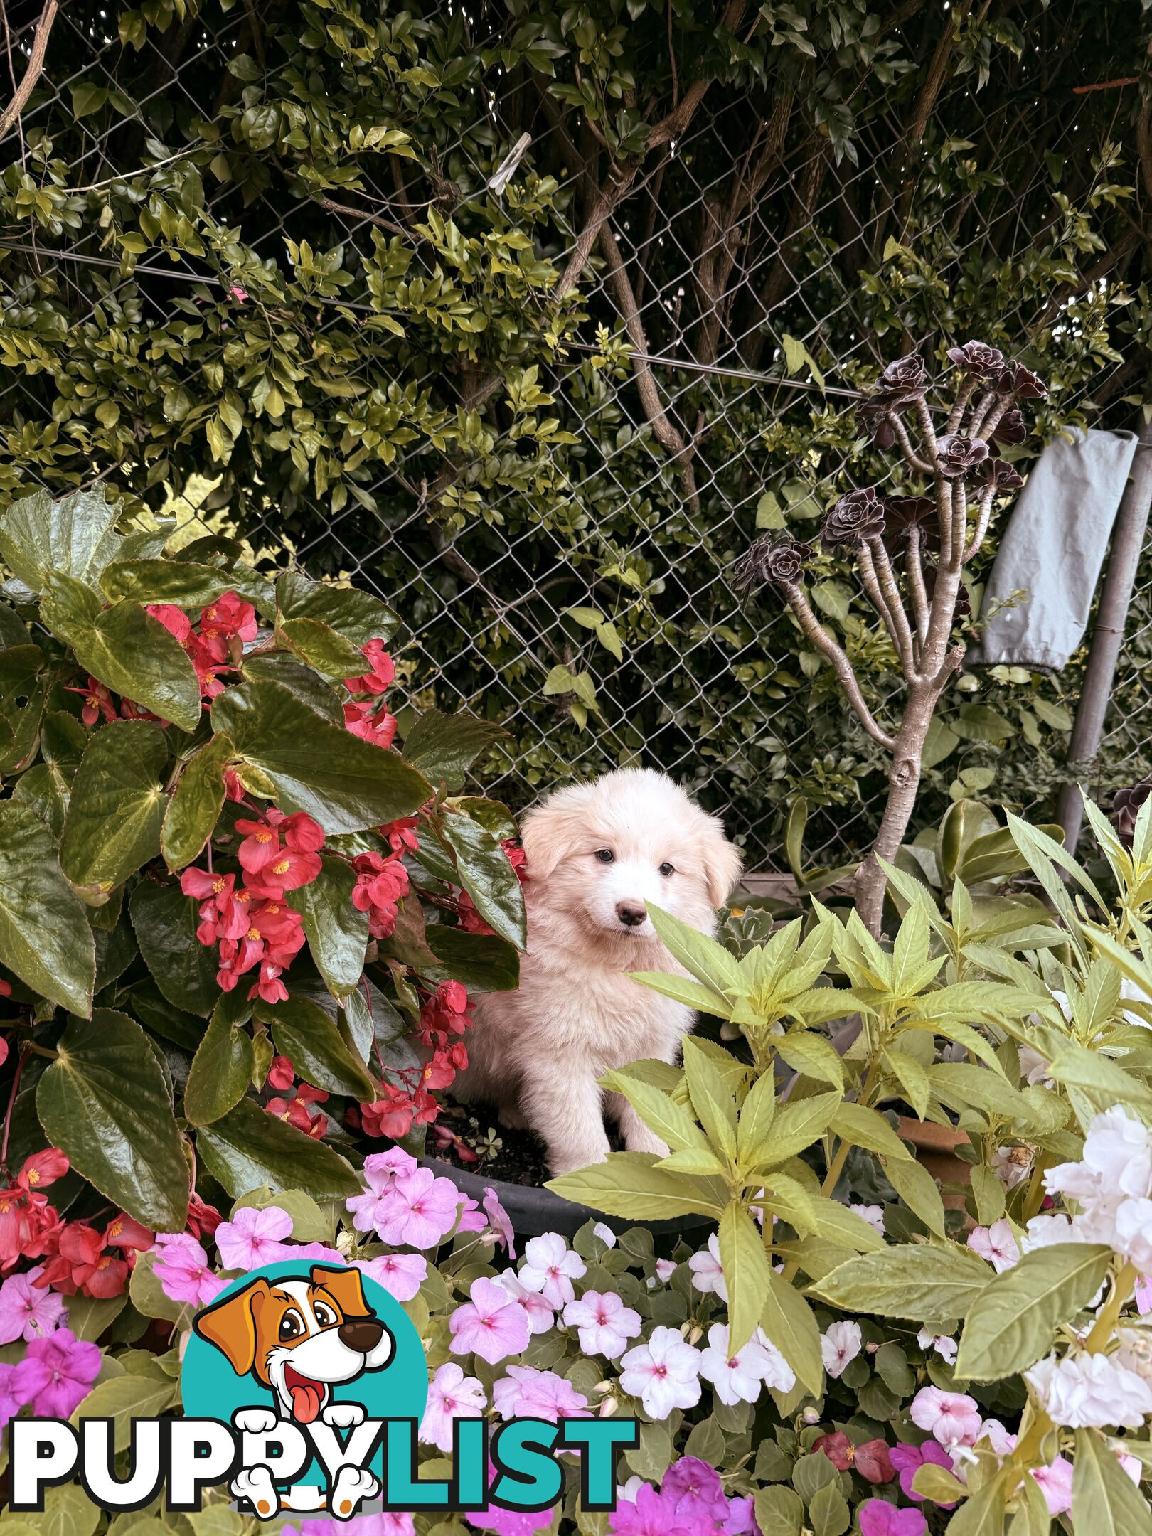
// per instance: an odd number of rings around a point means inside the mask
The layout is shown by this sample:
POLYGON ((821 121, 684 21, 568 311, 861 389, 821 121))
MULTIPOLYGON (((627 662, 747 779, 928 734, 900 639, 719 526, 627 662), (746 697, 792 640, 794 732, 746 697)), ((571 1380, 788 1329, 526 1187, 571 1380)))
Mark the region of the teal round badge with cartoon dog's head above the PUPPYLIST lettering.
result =
MULTIPOLYGON (((241 1428, 335 1427, 424 1416, 429 1364, 415 1324, 359 1269, 281 1261, 233 1279, 192 1322, 181 1399, 189 1418, 241 1428), (263 1410, 263 1412, 261 1412, 263 1410)), ((382 1479, 382 1452, 369 1464, 382 1479)), ((315 1458, 300 1484, 321 1484, 315 1458)))

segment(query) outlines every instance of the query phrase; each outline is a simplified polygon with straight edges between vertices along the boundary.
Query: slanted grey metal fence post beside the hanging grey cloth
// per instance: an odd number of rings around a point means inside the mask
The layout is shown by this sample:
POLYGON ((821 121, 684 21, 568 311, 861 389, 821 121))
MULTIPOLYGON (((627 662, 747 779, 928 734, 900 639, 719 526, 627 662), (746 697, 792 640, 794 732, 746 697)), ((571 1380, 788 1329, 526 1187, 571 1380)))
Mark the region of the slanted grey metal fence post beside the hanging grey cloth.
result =
MULTIPOLYGON (((1097 622, 1092 630, 1092 648, 1087 657, 1087 670, 1084 671, 1084 685, 1080 690, 1075 725, 1068 743, 1068 760, 1074 763, 1089 762, 1100 750, 1104 716, 1112 697, 1112 679, 1115 677, 1120 647, 1124 641, 1127 605, 1132 601, 1132 587, 1144 547, 1144 530, 1150 505, 1152 421, 1146 421, 1140 429, 1140 441, 1132 459, 1132 475, 1124 487, 1115 528, 1112 530, 1112 550, 1107 558, 1107 571, 1100 593, 1097 622)), ((1083 819, 1084 805, 1080 790, 1075 783, 1066 783, 1060 791, 1057 820, 1064 828, 1064 848, 1069 852, 1075 852, 1083 819)))

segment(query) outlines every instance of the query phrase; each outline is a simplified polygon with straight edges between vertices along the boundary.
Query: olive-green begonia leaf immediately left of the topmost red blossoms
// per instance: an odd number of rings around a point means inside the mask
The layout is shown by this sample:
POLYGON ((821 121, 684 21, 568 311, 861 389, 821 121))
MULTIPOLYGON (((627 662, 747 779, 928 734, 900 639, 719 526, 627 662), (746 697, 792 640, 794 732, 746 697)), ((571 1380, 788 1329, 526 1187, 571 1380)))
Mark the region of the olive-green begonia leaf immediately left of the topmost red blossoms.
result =
POLYGON ((138 602, 100 607, 91 587, 49 573, 40 614, 75 651, 77 662, 112 693, 132 699, 181 731, 200 723, 200 679, 180 641, 138 602))

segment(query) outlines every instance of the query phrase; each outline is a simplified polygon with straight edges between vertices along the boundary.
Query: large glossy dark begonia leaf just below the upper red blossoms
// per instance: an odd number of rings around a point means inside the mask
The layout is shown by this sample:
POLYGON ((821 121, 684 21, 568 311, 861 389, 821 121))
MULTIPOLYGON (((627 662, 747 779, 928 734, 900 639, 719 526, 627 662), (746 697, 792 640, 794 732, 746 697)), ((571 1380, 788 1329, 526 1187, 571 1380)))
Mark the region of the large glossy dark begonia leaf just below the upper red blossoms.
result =
POLYGON ((306 811, 330 836, 395 822, 432 799, 432 785, 402 757, 341 730, 276 682, 221 693, 212 727, 269 776, 283 811, 306 811))

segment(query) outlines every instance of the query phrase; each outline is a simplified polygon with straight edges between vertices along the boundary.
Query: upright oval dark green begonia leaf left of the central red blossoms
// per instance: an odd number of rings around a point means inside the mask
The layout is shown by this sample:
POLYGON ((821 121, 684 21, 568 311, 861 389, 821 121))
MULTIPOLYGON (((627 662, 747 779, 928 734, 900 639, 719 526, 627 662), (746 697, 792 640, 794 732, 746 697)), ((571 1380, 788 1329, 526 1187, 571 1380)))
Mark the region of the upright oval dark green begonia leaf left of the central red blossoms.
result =
POLYGON ((115 886, 160 852, 167 740, 149 720, 94 731, 72 780, 60 868, 72 885, 115 886))

